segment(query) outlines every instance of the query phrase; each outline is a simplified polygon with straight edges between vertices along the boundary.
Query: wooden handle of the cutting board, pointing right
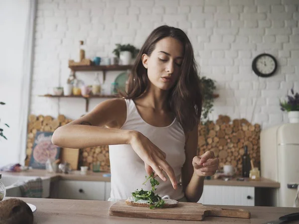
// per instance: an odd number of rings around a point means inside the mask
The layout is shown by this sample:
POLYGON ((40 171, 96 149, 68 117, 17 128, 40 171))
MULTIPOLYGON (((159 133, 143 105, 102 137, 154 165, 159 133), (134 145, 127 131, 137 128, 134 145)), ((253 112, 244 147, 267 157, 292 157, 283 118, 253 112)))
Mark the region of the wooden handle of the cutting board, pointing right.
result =
POLYGON ((211 210, 205 211, 205 216, 250 219, 250 212, 243 209, 221 209, 221 208, 210 208, 210 209, 211 210))

